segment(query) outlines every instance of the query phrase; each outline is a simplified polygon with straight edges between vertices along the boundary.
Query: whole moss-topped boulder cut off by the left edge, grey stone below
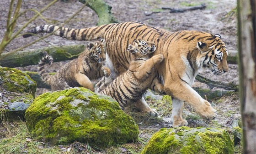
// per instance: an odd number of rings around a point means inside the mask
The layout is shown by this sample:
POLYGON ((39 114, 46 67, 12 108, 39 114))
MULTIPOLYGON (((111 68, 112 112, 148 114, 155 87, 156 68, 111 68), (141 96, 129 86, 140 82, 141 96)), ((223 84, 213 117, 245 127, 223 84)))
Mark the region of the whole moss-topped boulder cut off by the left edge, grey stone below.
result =
MULTIPOLYGON (((24 120, 33 102, 37 83, 20 70, 0 67, 0 111, 8 121, 24 120)), ((0 121, 2 121, 1 119, 0 121)))

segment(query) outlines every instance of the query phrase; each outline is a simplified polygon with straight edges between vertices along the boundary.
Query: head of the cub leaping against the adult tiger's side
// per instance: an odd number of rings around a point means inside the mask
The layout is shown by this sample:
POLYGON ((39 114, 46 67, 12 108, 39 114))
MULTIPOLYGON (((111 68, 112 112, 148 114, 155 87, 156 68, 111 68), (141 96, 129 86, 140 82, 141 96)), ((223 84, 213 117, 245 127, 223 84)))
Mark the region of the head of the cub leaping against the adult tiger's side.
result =
POLYGON ((154 42, 138 39, 128 45, 127 51, 131 52, 136 58, 149 57, 155 52, 156 47, 154 42))

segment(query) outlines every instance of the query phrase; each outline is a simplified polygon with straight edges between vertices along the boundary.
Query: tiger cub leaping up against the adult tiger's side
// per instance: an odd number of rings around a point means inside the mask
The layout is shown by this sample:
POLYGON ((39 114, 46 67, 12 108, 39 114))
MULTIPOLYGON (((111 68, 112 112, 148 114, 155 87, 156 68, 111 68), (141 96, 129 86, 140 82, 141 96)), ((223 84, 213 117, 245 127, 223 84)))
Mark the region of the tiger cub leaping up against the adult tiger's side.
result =
MULTIPOLYGON (((141 39, 134 40, 128 45, 127 49, 132 56, 128 70, 119 75, 99 93, 109 95, 117 100, 122 109, 127 104, 141 99, 141 96, 150 87, 154 87, 154 90, 161 93, 163 85, 156 78, 155 65, 162 62, 164 57, 160 54, 153 56, 155 50, 154 42, 141 39)), ((136 105, 138 104, 135 103, 136 105)))

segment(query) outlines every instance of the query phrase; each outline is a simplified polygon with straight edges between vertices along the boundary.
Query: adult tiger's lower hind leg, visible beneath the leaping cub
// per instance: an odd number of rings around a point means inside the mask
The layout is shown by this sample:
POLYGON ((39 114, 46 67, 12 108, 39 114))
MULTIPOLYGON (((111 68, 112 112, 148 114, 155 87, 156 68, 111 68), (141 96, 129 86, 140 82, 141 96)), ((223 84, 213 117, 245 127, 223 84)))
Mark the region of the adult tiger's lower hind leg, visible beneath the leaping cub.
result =
POLYGON ((140 112, 148 113, 151 117, 158 117, 159 114, 151 109, 145 99, 142 97, 141 99, 137 100, 134 105, 140 110, 140 112))

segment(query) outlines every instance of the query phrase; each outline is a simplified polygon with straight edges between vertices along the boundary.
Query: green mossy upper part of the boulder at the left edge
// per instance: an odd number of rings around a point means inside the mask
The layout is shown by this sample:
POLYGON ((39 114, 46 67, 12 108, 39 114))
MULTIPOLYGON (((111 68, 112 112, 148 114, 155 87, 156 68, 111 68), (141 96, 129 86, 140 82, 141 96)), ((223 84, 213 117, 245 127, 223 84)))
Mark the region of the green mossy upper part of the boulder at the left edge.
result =
POLYGON ((35 96, 37 83, 20 70, 0 67, 0 85, 1 88, 19 93, 29 93, 35 96))

